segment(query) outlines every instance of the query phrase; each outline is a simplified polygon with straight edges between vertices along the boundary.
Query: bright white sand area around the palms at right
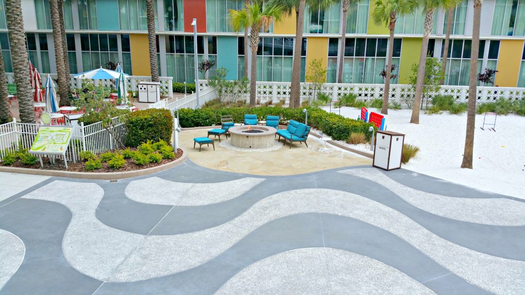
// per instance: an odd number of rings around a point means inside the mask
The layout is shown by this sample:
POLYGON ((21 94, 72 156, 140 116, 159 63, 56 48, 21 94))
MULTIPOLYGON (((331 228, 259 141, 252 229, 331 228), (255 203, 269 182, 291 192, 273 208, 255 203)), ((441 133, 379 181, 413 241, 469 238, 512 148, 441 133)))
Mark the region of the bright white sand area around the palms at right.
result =
MULTIPOLYGON (((369 111, 379 112, 371 108, 369 111)), ((356 108, 341 109, 341 115, 348 118, 357 118, 360 112, 356 108)), ((470 170, 460 167, 465 147, 466 113, 428 115, 422 111, 419 124, 409 123, 412 110, 388 110, 388 113, 387 130, 405 133, 405 143, 419 147, 417 157, 403 168, 525 199, 525 117, 498 115, 494 132, 488 128, 481 130, 484 115, 476 115, 474 169, 470 170)), ((364 146, 359 148, 364 149, 364 146)))

